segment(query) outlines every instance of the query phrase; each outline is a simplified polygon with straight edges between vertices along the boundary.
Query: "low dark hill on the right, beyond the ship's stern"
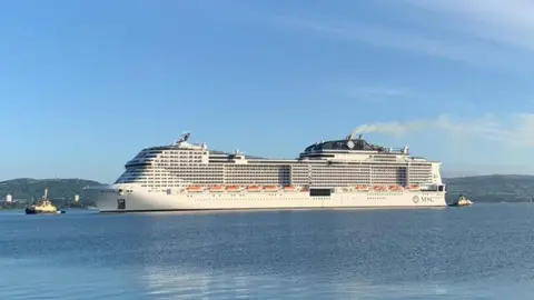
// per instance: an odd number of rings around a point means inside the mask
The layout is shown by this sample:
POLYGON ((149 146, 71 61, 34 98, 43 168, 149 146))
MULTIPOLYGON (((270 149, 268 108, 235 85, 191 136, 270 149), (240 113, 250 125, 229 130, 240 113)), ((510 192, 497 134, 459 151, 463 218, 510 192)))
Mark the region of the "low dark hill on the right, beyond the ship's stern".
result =
POLYGON ((473 176, 443 181, 447 184, 447 201, 461 193, 475 202, 525 202, 534 198, 534 176, 473 176))

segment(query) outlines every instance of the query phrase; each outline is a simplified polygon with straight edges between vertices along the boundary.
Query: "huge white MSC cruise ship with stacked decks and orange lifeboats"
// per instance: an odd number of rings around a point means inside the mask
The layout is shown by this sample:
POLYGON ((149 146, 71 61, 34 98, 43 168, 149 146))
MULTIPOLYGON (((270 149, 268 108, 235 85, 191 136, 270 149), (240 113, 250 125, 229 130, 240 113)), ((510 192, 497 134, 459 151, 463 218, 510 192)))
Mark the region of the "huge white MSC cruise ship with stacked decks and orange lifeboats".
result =
POLYGON ((446 207, 441 162, 350 133, 273 159, 190 143, 142 149, 113 184, 99 187, 101 212, 237 209, 446 207))

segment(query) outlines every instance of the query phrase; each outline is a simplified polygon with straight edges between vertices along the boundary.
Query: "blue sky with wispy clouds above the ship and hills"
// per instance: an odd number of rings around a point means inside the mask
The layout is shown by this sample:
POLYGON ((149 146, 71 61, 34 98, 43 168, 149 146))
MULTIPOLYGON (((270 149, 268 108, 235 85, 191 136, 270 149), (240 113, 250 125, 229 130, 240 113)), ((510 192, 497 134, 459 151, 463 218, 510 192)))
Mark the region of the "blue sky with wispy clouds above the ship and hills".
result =
POLYGON ((446 176, 534 173, 525 0, 10 1, 0 179, 111 182, 184 130, 296 157, 354 129, 446 176))

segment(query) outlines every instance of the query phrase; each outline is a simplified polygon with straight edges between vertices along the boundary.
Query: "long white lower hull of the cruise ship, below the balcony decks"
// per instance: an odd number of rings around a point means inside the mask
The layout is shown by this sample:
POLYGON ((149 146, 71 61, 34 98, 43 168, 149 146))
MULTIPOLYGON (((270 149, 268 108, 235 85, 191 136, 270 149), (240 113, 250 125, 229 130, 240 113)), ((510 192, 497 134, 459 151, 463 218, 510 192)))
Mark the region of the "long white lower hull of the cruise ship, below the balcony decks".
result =
POLYGON ((309 192, 149 192, 129 187, 129 193, 100 192, 97 207, 101 212, 166 210, 238 210, 238 209, 328 209, 376 207, 446 207, 445 192, 437 191, 336 191, 328 197, 310 197, 309 192), (119 203, 121 202, 121 203, 119 203), (122 206, 123 203, 123 206, 122 206))

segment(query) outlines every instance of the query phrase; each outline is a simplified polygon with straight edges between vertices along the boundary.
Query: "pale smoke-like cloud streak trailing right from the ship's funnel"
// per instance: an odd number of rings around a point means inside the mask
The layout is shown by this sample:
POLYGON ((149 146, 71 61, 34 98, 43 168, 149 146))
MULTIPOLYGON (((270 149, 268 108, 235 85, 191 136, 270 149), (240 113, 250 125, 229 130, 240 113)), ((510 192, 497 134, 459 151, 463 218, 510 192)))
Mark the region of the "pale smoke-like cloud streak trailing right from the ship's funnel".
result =
POLYGON ((454 138, 482 138, 506 147, 534 148, 534 113, 510 116, 487 114, 468 121, 453 120, 446 114, 435 120, 379 122, 362 124, 353 133, 384 133, 404 136, 422 130, 442 130, 454 138))

